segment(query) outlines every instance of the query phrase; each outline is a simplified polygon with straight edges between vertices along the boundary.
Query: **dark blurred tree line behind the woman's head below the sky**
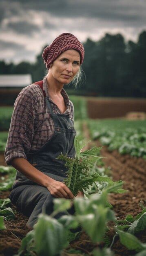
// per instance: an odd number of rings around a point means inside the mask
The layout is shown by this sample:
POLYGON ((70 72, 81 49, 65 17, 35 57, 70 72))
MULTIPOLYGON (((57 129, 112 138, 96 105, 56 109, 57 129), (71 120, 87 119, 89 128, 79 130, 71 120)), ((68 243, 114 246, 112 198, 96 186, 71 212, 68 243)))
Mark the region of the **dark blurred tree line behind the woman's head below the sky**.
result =
MULTIPOLYGON (((99 97, 146 97, 146 31, 138 40, 125 42, 121 34, 105 36, 93 41, 87 38, 82 69, 86 75, 77 86, 70 84, 74 93, 99 97)), ((44 46, 46 47, 46 46, 44 46)), ((46 67, 42 48, 35 63, 0 61, 0 74, 31 74, 33 82, 42 80, 46 67)))

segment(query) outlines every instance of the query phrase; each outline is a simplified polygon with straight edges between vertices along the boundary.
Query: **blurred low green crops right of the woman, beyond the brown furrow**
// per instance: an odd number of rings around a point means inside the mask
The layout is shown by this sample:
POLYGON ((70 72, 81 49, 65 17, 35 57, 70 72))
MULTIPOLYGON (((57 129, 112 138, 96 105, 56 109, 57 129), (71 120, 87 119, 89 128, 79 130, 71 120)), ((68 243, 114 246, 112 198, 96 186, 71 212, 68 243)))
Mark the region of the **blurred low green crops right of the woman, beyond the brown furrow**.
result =
POLYGON ((91 138, 100 139, 108 150, 146 159, 146 121, 124 119, 87 120, 91 138))

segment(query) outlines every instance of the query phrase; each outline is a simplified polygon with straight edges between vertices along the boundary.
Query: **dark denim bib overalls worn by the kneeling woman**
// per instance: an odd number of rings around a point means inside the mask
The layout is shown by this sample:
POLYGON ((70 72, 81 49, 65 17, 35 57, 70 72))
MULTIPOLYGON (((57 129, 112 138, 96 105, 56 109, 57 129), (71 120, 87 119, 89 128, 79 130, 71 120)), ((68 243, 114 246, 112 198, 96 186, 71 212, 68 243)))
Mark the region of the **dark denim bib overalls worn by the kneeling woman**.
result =
MULTIPOLYGON (((34 153, 27 154, 27 160, 45 175, 62 182, 66 178, 67 167, 64 166, 64 161, 56 159, 56 157, 61 152, 63 155, 67 154, 68 157, 75 157, 74 138, 76 132, 69 115, 54 114, 48 97, 45 97, 45 102, 53 119, 55 131, 51 139, 42 148, 34 153)), ((52 213, 55 197, 51 195, 46 187, 29 180, 19 171, 17 171, 12 189, 9 198, 18 210, 29 216, 27 226, 33 227, 37 222, 38 214, 42 210, 48 215, 52 213)), ((69 211, 73 213, 73 207, 69 211)), ((59 218, 63 214, 59 213, 55 218, 59 218)))

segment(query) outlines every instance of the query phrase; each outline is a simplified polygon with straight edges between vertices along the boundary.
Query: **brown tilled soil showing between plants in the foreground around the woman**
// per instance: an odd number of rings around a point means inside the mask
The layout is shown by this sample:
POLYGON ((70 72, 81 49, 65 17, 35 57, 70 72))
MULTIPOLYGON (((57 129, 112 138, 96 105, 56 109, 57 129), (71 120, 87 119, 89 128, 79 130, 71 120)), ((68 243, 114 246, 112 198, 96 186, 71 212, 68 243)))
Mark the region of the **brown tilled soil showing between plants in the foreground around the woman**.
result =
MULTIPOLYGON (((89 138, 88 130, 84 127, 84 133, 86 138, 89 138)), ((100 142, 94 141, 96 146, 101 146, 100 142)), ((90 146, 90 145, 89 145, 90 146)), ((105 167, 111 166, 111 175, 113 180, 125 181, 123 188, 128 190, 128 193, 124 194, 110 194, 109 202, 113 205, 115 216, 120 219, 124 219, 126 215, 131 214, 136 216, 140 213, 141 207, 139 206, 140 200, 146 202, 145 191, 146 191, 146 160, 142 158, 132 157, 130 155, 120 155, 117 150, 109 152, 107 146, 103 146, 101 155, 107 158, 103 158, 105 167)), ((7 198, 10 191, 1 192, 1 198, 7 198)), ((28 218, 23 216, 22 213, 18 212, 16 208, 11 204, 11 208, 15 212, 15 220, 6 221, 5 225, 7 230, 1 231, 0 234, 0 256, 13 256, 18 252, 21 245, 21 239, 29 232, 26 226, 28 218)), ((115 231, 113 224, 111 223, 110 230, 107 232, 111 242, 115 231)), ((146 233, 138 234, 137 237, 142 241, 146 241, 146 233)), ((79 240, 71 243, 71 248, 82 251, 91 255, 90 252, 95 247, 104 247, 104 243, 93 244, 91 239, 82 232, 79 240)), ((135 255, 135 251, 126 249, 120 242, 119 239, 115 239, 115 243, 112 246, 112 250, 115 256, 132 256, 135 255)), ((64 254, 71 255, 71 254, 64 254)), ((72 254, 72 255, 83 255, 83 254, 72 254)))

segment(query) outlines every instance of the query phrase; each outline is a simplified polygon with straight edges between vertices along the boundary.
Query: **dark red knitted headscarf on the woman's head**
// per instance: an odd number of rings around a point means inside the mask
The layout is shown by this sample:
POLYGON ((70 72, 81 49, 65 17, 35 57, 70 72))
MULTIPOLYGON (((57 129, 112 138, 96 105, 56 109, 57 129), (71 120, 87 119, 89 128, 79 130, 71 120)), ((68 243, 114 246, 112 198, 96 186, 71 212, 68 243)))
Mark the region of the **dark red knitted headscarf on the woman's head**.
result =
POLYGON ((84 60, 84 46, 73 34, 63 33, 55 38, 53 43, 47 46, 43 51, 42 57, 47 69, 49 70, 50 64, 55 61, 62 52, 69 49, 75 49, 80 53, 80 65, 82 65, 84 60))

